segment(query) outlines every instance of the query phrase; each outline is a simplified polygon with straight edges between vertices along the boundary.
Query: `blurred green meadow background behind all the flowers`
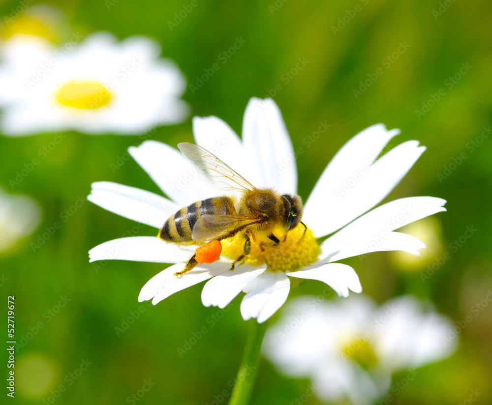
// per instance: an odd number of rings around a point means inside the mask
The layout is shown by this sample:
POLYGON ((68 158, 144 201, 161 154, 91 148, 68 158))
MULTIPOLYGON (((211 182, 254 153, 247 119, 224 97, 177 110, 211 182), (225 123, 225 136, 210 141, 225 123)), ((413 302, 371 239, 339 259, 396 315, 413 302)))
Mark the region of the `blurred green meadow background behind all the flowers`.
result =
MULTIPOLYGON (((365 292, 378 302, 412 293, 431 299, 441 313, 455 321, 469 315, 472 306, 492 288, 492 140, 482 139, 474 148, 469 144, 479 141, 483 127, 492 124, 490 1, 448 1, 446 7, 442 1, 418 0, 198 0, 172 29, 168 21, 190 1, 68 0, 49 4, 59 6, 72 28, 85 35, 109 30, 120 39, 134 34, 155 38, 162 45, 162 56, 175 60, 193 85, 204 69, 242 37, 244 46, 202 87, 193 92, 188 87, 184 99, 191 106, 191 116, 218 116, 241 133, 249 98, 272 96, 295 148, 306 145, 303 139, 320 121, 330 124, 316 147, 305 147, 298 157, 299 194, 304 200, 338 149, 367 126, 383 122, 388 128, 400 128, 401 135, 391 141, 392 146, 419 140, 428 150, 387 201, 414 195, 446 199, 448 212, 437 214, 431 229, 440 229, 436 234, 441 248, 434 257, 447 251, 451 258, 425 280, 421 274, 434 263, 432 256, 412 265, 404 265, 401 257, 388 253, 345 262, 354 266, 365 292), (338 19, 356 4, 361 11, 345 27, 334 30, 338 19), (444 12, 433 13, 439 12, 440 6, 444 12), (399 49, 402 52, 398 53, 399 49), (285 72, 296 66, 298 58, 308 63, 286 83, 285 72), (449 88, 445 81, 459 72, 462 63, 471 68, 449 88), (374 77, 377 69, 383 74, 362 91, 359 82, 374 77), (271 89, 278 84, 281 89, 277 86, 275 94, 271 89), (423 116, 416 114, 440 88, 445 89, 445 95, 423 116), (354 89, 361 93, 354 94, 354 89), (438 176, 463 151, 467 158, 446 172, 450 174, 445 178, 438 176), (458 249, 450 246, 469 226, 477 229, 474 235, 458 249)), ((18 5, 18 1, 4 1, 0 11, 8 15, 10 8, 18 5)), ((152 139, 170 145, 192 141, 191 116, 183 124, 157 128, 152 139)), ((30 327, 39 321, 43 324, 18 351, 17 365, 25 362, 32 369, 37 364, 41 374, 52 381, 47 391, 36 393, 28 389, 36 378, 18 376, 15 401, 42 403, 50 389, 55 390, 65 376, 79 368, 82 359, 89 359, 92 365, 88 371, 67 386, 58 404, 133 403, 128 398, 149 380, 155 385, 142 403, 211 404, 214 396, 230 391, 228 383, 241 359, 248 325, 239 313, 240 297, 224 312, 205 308, 200 284, 155 307, 149 302, 139 304, 141 287, 163 266, 109 261, 98 268, 95 264, 101 263, 89 263, 89 249, 121 237, 136 225, 90 202, 33 252, 30 243, 78 197, 87 196, 93 181, 109 180, 159 193, 134 161, 118 170, 110 166, 117 164, 129 145, 142 142, 138 136, 72 132, 12 191, 8 180, 53 137, 0 137, 0 186, 10 193, 32 196, 43 208, 38 229, 0 255, 0 275, 7 279, 0 287, 2 297, 16 296, 17 335, 26 336, 30 327), (70 301, 54 317, 46 315, 56 310, 60 296, 70 301), (139 307, 140 316, 118 333, 115 328, 122 327, 122 318, 130 317, 139 307), (203 327, 207 332, 180 356, 177 348, 184 347, 184 341, 203 327)), ((327 210, 324 215, 337 213, 327 210)), ((150 227, 136 230, 138 235, 155 233, 150 227)), ((422 238, 428 242, 432 235, 428 240, 422 238)), ((292 289, 291 295, 319 294, 323 289, 321 283, 308 282, 292 289)), ((491 307, 460 333, 460 347, 452 357, 422 368, 421 376, 394 403, 458 404, 472 389, 478 389, 483 395, 477 404, 490 404, 491 307)), ((277 318, 278 314, 272 321, 277 318)), ((3 316, 1 322, 5 324, 3 316)), ((308 380, 279 375, 262 361, 251 403, 290 404, 305 393, 307 384, 308 380)), ((316 403, 313 398, 309 401, 316 403)))

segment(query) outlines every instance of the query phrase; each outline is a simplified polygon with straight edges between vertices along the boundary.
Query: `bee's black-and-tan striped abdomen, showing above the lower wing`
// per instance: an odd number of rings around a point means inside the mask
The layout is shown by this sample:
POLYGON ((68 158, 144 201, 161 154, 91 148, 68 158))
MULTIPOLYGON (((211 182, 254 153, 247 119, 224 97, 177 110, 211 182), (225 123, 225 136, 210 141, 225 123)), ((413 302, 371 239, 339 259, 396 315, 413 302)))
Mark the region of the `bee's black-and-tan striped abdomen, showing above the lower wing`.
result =
POLYGON ((159 231, 158 237, 167 242, 187 244, 193 242, 191 231, 202 215, 235 214, 234 202, 228 197, 213 197, 181 208, 172 215, 159 231))

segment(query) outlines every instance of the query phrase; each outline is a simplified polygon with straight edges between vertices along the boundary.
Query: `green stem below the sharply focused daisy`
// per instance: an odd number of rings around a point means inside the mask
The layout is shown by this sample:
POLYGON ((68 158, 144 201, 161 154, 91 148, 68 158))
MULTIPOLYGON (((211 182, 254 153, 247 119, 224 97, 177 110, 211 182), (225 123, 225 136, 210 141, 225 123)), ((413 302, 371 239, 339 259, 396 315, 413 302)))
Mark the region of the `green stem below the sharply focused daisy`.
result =
POLYGON ((232 390, 229 405, 247 405, 251 398, 251 393, 258 371, 260 361, 260 348, 263 336, 267 329, 267 323, 258 323, 256 319, 250 320, 249 332, 246 339, 245 351, 241 360, 241 366, 236 377, 236 385, 232 390))

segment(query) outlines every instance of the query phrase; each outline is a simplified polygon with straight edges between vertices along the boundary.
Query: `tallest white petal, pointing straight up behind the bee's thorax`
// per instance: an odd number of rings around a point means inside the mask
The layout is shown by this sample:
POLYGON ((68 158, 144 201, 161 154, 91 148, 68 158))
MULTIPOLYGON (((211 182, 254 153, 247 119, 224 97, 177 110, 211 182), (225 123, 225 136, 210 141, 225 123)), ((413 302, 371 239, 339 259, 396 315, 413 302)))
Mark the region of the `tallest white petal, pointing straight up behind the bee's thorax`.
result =
POLYGON ((243 142, 256 187, 275 187, 279 193, 297 193, 294 149, 277 104, 251 98, 243 118, 243 142))

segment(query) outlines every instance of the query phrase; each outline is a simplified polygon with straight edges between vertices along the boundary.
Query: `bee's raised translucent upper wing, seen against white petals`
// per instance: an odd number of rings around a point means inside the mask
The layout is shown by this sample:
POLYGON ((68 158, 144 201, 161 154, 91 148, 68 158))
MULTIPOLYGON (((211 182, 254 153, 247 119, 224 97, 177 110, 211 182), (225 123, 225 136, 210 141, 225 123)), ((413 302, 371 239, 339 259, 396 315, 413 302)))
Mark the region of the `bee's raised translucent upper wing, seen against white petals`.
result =
POLYGON ((178 147, 184 157, 198 169, 199 174, 202 174, 201 180, 208 186, 223 191, 241 192, 254 189, 249 181, 207 149, 186 142, 178 144, 178 147))

